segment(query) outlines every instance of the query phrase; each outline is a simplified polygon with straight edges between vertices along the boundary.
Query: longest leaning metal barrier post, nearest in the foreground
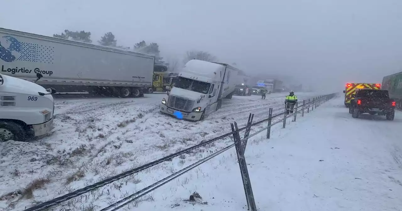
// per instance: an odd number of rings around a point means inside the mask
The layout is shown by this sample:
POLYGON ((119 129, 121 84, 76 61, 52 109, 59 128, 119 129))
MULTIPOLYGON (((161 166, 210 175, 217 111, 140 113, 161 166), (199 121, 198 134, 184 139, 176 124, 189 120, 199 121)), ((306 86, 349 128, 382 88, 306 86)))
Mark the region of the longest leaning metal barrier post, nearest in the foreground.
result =
POLYGON ((257 211, 257 207, 256 207, 255 201, 254 201, 254 195, 252 193, 250 176, 248 175, 247 163, 246 163, 246 159, 244 158, 242 143, 240 141, 240 134, 239 134, 239 130, 237 127, 237 123, 234 122, 234 127, 233 127, 233 123, 230 123, 230 126, 232 127, 232 132, 234 132, 234 134, 233 134, 233 139, 234 139, 234 143, 235 143, 234 146, 236 147, 236 154, 237 154, 237 159, 239 161, 240 173, 242 174, 244 193, 246 194, 248 210, 257 211), (236 127, 236 130, 235 130, 235 127, 236 127))

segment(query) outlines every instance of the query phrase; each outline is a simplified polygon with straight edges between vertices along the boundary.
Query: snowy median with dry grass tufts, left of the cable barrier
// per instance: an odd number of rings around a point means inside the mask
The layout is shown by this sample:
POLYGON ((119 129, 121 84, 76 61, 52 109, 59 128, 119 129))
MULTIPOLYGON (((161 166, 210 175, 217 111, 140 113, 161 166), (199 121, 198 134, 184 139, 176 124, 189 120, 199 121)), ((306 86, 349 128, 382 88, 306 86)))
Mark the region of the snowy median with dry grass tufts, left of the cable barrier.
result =
MULTIPOLYGON (((267 118, 270 107, 280 113, 286 94, 267 95, 265 100, 260 96, 234 96, 224 100, 222 109, 195 123, 162 115, 159 103, 165 94, 131 99, 57 98, 52 134, 30 143, 0 143, 0 209, 22 210, 228 133, 233 121, 244 126, 249 113, 255 114, 254 121, 267 118)), ((300 100, 316 95, 297 93, 300 100)), ((117 181, 88 194, 91 200, 72 199, 65 207, 85 210, 74 206, 91 206, 91 202, 105 207, 230 141, 224 139, 210 148, 117 181)))

